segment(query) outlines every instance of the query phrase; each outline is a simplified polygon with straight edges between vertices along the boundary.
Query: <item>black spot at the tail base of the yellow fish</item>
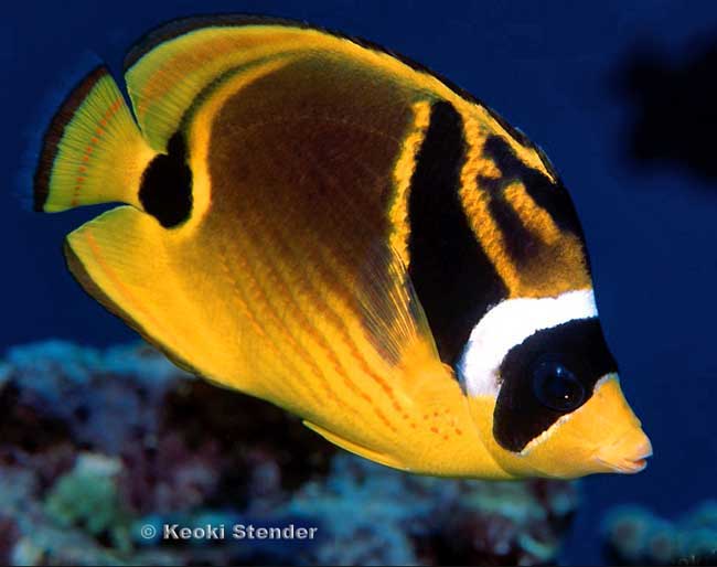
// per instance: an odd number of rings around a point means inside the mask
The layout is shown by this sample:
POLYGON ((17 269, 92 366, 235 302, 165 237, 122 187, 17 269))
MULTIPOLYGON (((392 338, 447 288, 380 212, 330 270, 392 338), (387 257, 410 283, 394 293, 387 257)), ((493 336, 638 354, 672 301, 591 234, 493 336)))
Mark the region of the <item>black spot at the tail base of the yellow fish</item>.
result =
POLYGON ((192 170, 186 163, 186 146, 180 132, 170 138, 167 154, 157 156, 145 170, 139 201, 145 211, 165 228, 189 218, 192 212, 192 170))

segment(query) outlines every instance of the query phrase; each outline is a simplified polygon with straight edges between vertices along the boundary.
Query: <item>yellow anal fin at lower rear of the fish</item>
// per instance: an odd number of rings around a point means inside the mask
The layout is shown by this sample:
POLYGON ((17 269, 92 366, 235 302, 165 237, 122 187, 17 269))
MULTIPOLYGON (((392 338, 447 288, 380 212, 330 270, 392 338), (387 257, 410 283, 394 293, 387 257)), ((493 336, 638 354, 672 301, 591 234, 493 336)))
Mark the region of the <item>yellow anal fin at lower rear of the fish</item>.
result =
MULTIPOLYGON (((131 206, 108 211, 67 236, 67 265, 83 288, 179 366, 208 378, 240 376, 225 330, 212 327, 169 232, 131 206), (227 339, 224 339, 226 342, 227 339)), ((247 391, 246 384, 233 384, 247 391)))

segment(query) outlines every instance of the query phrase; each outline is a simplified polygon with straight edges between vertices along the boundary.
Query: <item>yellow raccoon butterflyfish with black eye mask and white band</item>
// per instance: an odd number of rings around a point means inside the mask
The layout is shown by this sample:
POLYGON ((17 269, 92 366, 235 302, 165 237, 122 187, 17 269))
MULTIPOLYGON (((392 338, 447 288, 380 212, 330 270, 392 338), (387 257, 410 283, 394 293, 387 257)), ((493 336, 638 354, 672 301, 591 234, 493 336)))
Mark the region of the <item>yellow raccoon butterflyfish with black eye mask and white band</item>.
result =
POLYGON ((150 33, 56 113, 39 211, 97 301, 179 366, 422 474, 636 472, 651 454, 546 157, 376 45, 283 20, 150 33))

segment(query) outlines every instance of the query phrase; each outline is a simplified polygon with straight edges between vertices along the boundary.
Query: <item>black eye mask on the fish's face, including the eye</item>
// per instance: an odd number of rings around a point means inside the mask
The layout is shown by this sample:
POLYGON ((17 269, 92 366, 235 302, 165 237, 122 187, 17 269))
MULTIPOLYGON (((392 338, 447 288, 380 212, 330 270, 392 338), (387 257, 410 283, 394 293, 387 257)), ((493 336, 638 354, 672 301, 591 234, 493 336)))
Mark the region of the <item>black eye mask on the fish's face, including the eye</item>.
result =
POLYGON ((596 382, 617 370, 596 318, 532 334, 501 364, 493 437, 504 449, 522 451, 590 399, 596 382))

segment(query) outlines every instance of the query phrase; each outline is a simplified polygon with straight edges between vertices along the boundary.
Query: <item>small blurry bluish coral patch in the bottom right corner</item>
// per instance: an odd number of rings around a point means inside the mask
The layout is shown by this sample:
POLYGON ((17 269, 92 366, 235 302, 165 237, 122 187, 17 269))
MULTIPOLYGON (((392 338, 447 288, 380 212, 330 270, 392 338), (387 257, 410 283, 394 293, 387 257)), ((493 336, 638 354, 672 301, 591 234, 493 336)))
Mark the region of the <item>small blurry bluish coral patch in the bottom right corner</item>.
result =
POLYGON ((607 515, 603 538, 611 564, 717 565, 717 501, 674 522, 641 506, 620 506, 607 515))

